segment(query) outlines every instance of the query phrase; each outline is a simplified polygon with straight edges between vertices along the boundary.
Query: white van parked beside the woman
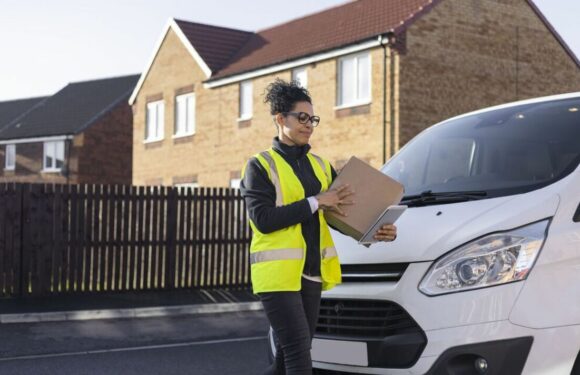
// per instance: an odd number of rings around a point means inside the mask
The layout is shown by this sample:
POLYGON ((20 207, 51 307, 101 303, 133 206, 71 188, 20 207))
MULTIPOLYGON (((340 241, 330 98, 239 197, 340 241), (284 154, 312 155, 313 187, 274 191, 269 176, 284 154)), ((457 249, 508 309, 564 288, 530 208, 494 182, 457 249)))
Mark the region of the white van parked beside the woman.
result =
POLYGON ((580 374, 580 93, 458 116, 383 173, 392 243, 338 232, 315 374, 580 374))

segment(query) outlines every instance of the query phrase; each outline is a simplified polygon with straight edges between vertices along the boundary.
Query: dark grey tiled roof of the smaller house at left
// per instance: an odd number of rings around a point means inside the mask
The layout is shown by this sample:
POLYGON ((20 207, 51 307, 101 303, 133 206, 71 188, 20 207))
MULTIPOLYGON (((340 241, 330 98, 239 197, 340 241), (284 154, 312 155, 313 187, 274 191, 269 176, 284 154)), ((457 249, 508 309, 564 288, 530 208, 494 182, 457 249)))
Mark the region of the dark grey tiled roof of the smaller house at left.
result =
POLYGON ((124 102, 138 75, 70 83, 0 129, 0 139, 72 135, 124 102))

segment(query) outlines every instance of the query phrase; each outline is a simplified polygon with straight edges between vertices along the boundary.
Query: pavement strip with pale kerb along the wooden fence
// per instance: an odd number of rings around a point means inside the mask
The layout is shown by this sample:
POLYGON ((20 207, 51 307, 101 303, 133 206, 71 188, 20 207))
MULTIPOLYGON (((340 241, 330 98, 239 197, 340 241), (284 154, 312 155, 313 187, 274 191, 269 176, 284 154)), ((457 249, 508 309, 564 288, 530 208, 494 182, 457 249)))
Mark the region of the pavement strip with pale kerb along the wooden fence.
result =
POLYGON ((0 299, 0 324, 262 310, 249 289, 94 293, 0 299))

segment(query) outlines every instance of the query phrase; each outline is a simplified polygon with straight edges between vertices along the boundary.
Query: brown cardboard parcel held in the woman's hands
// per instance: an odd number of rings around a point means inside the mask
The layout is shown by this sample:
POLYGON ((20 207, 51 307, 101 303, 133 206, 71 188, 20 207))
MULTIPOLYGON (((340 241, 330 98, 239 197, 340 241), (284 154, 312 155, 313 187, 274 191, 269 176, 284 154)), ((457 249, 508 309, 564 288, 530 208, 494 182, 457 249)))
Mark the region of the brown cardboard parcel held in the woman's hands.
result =
POLYGON ((324 211, 326 221, 342 233, 360 240, 387 207, 396 205, 403 197, 403 185, 362 160, 351 157, 344 165, 330 189, 349 184, 355 201, 340 208, 347 216, 324 211))

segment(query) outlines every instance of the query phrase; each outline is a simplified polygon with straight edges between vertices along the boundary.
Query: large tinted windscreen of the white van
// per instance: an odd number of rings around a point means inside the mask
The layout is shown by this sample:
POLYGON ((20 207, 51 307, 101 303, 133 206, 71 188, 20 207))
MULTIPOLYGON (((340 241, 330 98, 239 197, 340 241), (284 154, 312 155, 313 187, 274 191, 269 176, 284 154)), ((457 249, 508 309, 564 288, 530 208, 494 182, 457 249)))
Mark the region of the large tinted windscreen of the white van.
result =
POLYGON ((445 121, 382 168, 424 192, 484 191, 486 198, 549 185, 580 162, 580 98, 519 105, 445 121))

